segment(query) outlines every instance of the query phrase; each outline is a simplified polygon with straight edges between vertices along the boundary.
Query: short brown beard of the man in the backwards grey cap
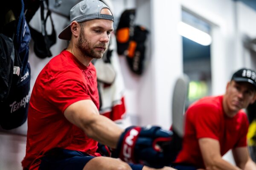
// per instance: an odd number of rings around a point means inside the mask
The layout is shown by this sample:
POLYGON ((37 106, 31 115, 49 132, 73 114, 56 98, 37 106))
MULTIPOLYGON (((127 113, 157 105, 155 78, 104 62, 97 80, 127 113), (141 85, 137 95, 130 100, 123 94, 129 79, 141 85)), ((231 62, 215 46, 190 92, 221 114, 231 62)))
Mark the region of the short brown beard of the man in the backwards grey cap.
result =
POLYGON ((76 48, 78 48, 82 54, 86 57, 90 57, 93 59, 100 59, 102 58, 103 54, 107 49, 106 43, 99 43, 96 45, 92 45, 84 36, 84 32, 81 30, 79 34, 78 42, 76 43, 76 48), (94 47, 104 47, 105 50, 101 52, 94 51, 94 47))

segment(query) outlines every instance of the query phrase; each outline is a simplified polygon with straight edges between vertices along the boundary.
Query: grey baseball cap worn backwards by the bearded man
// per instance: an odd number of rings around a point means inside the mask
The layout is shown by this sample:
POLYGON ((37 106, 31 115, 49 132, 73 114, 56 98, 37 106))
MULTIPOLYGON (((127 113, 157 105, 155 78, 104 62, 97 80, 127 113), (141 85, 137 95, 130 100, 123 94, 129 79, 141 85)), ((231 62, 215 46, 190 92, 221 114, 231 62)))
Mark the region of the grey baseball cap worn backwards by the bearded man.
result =
MULTIPOLYGON (((58 37, 62 40, 71 39, 70 25, 73 21, 78 23, 94 19, 114 21, 113 15, 101 14, 102 8, 108 8, 108 6, 99 0, 82 0, 70 9, 70 24, 61 31, 58 37)), ((108 9, 110 10, 110 8, 108 9)))

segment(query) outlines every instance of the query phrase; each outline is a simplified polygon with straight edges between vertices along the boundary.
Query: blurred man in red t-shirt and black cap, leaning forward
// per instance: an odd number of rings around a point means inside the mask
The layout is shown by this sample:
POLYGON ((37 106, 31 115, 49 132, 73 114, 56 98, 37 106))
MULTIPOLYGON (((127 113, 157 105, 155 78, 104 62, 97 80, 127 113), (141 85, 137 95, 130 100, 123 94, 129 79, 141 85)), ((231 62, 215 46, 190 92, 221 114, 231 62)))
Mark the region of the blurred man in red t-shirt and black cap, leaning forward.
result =
POLYGON ((178 170, 256 170, 247 150, 248 120, 241 109, 256 100, 256 73, 236 71, 222 96, 193 103, 185 113, 182 150, 175 163, 178 170), (232 149, 236 166, 222 159, 232 149))

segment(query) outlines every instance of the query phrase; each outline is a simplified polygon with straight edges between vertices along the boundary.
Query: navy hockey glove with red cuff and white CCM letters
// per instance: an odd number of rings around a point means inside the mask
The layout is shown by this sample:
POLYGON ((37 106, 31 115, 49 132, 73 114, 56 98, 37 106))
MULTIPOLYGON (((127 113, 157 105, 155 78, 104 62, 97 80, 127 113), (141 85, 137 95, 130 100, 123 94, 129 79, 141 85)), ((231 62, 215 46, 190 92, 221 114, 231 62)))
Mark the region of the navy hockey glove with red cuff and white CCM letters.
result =
POLYGON ((119 138, 113 157, 134 164, 162 168, 175 158, 172 131, 158 126, 128 127, 119 138))

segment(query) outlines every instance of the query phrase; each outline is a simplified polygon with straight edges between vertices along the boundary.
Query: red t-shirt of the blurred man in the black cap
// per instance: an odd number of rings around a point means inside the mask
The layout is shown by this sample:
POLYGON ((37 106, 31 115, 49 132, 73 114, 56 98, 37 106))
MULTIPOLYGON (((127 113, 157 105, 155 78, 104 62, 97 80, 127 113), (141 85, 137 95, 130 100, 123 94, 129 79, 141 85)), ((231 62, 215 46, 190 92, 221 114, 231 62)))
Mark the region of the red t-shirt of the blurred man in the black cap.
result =
POLYGON ((186 111, 183 148, 176 163, 205 168, 198 144, 200 138, 216 139, 220 143, 221 156, 228 150, 247 146, 249 122, 246 114, 239 111, 233 118, 224 114, 223 96, 205 97, 192 104, 186 111))

